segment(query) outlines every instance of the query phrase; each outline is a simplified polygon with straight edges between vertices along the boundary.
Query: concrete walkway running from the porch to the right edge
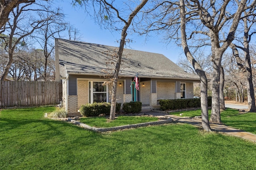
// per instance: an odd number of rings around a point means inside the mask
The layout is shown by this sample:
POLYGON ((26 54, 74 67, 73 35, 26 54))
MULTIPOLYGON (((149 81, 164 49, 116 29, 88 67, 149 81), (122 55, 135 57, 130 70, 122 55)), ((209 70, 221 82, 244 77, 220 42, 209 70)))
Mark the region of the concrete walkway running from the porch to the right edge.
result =
MULTIPOLYGON (((176 115, 168 115, 166 113, 161 113, 161 112, 156 112, 156 111, 146 112, 145 114, 146 115, 153 115, 153 116, 156 116, 156 117, 159 117, 159 118, 161 118, 161 117, 170 117, 170 118, 172 118, 172 120, 174 122, 189 123, 189 124, 192 124, 192 125, 202 127, 201 119, 193 119, 193 118, 190 118, 190 117, 179 117, 179 116, 176 116, 176 115)), ((249 133, 249 132, 234 129, 234 128, 225 126, 223 124, 218 124, 218 123, 210 123, 210 127, 214 131, 219 131, 219 132, 222 132, 222 133, 226 133, 226 134, 229 134, 229 135, 233 135, 233 136, 236 136, 236 137, 240 137, 240 138, 243 138, 243 139, 247 139, 247 140, 256 142, 256 135, 254 135, 252 133, 249 133)))

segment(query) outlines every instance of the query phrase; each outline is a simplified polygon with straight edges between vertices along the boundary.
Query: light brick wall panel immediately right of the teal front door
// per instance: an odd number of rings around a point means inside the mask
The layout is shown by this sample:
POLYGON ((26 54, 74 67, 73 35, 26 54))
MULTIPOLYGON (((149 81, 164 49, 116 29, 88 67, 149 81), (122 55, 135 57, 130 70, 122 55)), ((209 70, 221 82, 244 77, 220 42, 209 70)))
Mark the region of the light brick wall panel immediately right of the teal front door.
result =
POLYGON ((150 81, 140 83, 140 102, 150 104, 150 81), (142 85, 144 83, 144 86, 142 85))

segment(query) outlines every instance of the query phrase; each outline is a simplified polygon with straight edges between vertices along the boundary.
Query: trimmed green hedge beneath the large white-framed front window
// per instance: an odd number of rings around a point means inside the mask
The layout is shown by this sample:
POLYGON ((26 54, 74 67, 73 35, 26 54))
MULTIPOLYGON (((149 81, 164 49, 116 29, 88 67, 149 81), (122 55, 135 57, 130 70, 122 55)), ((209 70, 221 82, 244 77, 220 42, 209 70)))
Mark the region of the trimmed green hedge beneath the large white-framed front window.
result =
MULTIPOLYGON (((101 102, 85 104, 80 107, 80 113, 86 117, 98 116, 100 114, 110 115, 111 103, 101 102)), ((121 103, 116 103, 116 112, 120 111, 121 103)))

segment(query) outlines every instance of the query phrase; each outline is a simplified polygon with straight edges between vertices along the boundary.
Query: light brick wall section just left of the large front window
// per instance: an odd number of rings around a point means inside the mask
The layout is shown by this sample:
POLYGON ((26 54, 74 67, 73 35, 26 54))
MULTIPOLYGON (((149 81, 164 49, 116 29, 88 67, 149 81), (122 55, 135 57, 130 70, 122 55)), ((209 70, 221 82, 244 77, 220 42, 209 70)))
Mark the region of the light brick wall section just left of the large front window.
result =
POLYGON ((77 96, 78 96, 78 108, 82 104, 89 102, 89 82, 88 80, 77 80, 77 96))

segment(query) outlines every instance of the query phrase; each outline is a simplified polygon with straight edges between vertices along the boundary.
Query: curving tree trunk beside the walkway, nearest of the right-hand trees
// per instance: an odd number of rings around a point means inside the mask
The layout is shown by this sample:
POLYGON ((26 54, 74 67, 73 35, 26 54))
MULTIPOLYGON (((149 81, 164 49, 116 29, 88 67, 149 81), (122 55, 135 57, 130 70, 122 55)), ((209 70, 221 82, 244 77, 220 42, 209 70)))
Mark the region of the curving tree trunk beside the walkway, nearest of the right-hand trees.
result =
POLYGON ((182 47, 184 49, 184 53, 188 59, 188 61, 192 64, 196 73, 200 77, 201 82, 201 110, 202 110, 202 129, 204 131, 212 131, 209 124, 208 118, 208 100, 207 100, 207 88, 208 81, 205 75, 204 70, 200 64, 196 62, 192 54, 188 49, 188 44, 186 41, 186 12, 185 12, 185 3, 184 0, 180 0, 180 32, 182 37, 182 47))

